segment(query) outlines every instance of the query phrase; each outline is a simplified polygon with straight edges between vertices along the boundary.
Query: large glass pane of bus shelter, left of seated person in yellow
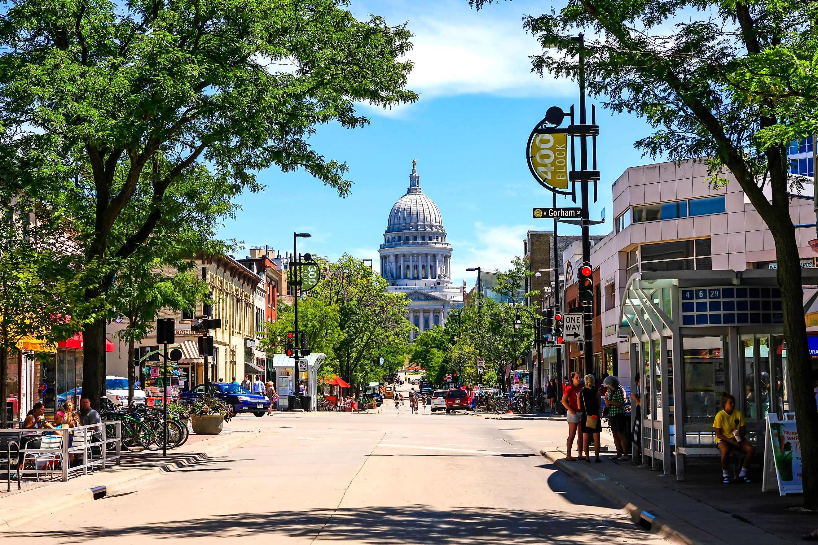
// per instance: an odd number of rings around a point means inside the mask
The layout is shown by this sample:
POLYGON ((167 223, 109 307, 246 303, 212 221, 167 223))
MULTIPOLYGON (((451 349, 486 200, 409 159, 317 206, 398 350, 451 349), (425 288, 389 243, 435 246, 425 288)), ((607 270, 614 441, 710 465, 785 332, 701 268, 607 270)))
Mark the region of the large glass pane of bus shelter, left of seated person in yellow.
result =
POLYGON ((712 424, 726 393, 727 343, 724 337, 684 337, 685 422, 712 424))

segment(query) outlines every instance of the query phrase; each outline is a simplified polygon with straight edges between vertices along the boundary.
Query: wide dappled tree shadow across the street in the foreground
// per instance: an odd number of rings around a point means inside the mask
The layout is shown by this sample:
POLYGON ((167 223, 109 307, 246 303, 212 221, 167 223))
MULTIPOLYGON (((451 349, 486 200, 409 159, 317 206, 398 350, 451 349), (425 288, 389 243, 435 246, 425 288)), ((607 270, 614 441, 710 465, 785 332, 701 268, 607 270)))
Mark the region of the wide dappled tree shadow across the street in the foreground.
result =
MULTIPOLYGON (((117 538, 314 538, 356 543, 434 543, 439 545, 497 545, 497 543, 619 543, 627 535, 635 543, 658 538, 621 516, 599 512, 509 511, 491 507, 438 509, 409 507, 357 507, 303 509, 267 513, 241 512, 213 517, 186 518, 183 524, 141 524, 127 528, 94 526, 72 531, 71 543, 117 538), (467 540, 467 541, 464 541, 467 540)), ((16 538, 48 543, 65 538, 64 529, 15 529, 16 538)), ((272 543, 275 543, 273 541, 272 543)))

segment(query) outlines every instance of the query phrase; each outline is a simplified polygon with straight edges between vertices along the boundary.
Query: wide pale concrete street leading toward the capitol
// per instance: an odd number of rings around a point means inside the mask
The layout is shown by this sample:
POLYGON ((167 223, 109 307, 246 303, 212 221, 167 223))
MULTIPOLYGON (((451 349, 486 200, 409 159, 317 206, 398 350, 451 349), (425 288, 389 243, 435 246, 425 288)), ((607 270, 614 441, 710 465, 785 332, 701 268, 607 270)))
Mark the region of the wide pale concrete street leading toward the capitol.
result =
POLYGON ((276 413, 222 458, 0 534, 3 543, 659 543, 537 454, 560 422, 276 413))

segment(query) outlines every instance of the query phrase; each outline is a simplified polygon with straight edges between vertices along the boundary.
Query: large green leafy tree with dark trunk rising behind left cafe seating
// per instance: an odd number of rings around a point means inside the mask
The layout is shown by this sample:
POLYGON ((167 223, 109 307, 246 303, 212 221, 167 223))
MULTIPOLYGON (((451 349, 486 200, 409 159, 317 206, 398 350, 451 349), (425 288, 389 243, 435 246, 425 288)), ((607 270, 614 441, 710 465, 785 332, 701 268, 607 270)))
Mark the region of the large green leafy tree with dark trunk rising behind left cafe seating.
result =
POLYGON ((405 25, 357 20, 345 0, 3 5, 7 182, 64 208, 78 252, 96 267, 83 286, 98 315, 85 327, 83 386, 100 395, 106 295, 160 222, 201 202, 192 173, 220 198, 260 190, 255 172, 273 166, 303 168, 345 195, 346 165, 308 144, 317 124, 360 127, 368 120, 356 101, 417 98, 405 90, 405 25), (174 191, 179 184, 188 191, 174 191), (150 195, 147 206, 137 194, 150 195))

